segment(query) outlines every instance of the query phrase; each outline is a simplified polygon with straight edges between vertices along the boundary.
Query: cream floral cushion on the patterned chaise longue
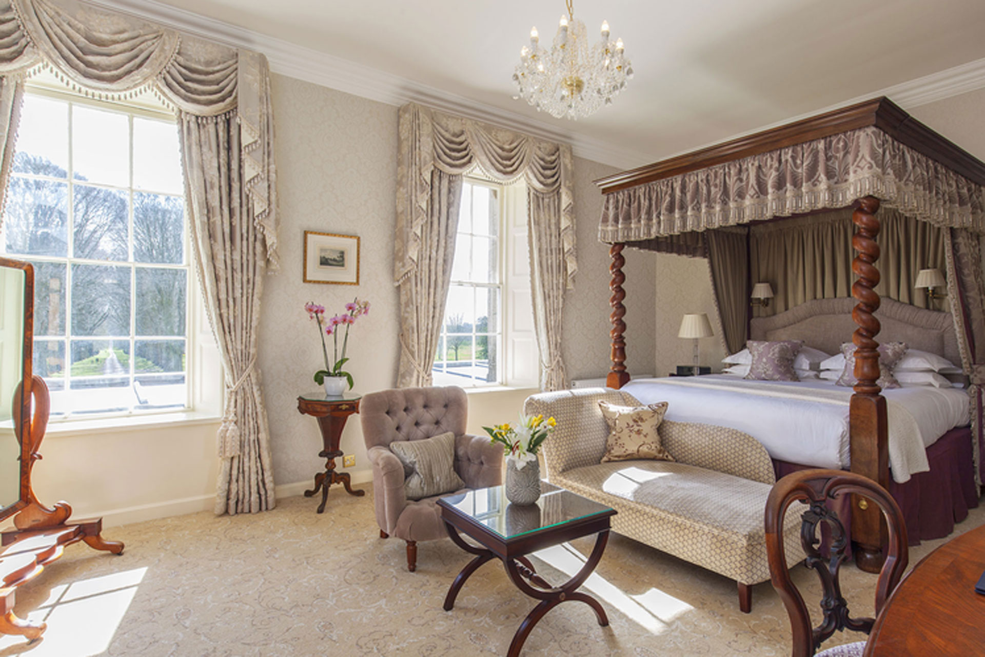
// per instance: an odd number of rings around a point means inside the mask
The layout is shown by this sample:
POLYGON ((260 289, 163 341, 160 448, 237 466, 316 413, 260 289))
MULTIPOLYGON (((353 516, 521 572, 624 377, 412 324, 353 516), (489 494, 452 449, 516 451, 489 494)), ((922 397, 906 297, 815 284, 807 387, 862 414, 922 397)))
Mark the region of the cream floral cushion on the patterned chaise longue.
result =
POLYGON ((617 406, 609 402, 599 402, 602 417, 609 424, 609 437, 606 439, 607 461, 631 461, 653 459, 673 461, 660 442, 657 427, 667 414, 667 402, 657 402, 647 406, 617 406))

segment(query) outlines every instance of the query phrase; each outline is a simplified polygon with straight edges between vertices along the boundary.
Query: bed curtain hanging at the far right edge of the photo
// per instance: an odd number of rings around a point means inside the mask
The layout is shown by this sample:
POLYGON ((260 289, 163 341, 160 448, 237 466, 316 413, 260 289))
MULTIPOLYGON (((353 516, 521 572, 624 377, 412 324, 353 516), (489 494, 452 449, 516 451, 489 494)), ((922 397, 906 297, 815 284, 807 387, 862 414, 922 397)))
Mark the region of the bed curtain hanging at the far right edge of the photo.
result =
POLYGON ((971 230, 952 229, 947 234, 948 296, 951 300, 957 347, 964 373, 970 379, 971 433, 975 479, 985 481, 985 274, 983 274, 982 235, 971 230))

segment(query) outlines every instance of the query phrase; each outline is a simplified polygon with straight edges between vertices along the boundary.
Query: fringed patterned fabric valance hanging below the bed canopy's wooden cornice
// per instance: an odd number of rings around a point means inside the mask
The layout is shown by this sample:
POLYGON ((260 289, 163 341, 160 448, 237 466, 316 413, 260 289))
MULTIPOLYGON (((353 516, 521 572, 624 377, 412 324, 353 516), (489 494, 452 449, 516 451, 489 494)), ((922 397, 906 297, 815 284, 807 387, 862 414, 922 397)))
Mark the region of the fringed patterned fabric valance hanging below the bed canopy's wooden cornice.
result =
POLYGON ((609 193, 599 239, 749 224, 867 195, 935 226, 985 230, 981 185, 869 126, 609 193))

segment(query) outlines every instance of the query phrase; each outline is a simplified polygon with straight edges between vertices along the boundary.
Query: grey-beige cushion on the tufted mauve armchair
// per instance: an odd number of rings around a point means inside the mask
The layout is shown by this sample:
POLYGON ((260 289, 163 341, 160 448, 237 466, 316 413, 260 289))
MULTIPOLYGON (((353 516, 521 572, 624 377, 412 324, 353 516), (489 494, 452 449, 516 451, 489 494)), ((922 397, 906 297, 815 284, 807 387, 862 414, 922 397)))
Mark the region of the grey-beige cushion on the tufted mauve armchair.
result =
POLYGON ((455 472, 455 434, 438 433, 423 440, 394 440, 390 451, 404 464, 404 494, 421 499, 465 488, 455 472), (406 474, 410 470, 410 474, 406 474))

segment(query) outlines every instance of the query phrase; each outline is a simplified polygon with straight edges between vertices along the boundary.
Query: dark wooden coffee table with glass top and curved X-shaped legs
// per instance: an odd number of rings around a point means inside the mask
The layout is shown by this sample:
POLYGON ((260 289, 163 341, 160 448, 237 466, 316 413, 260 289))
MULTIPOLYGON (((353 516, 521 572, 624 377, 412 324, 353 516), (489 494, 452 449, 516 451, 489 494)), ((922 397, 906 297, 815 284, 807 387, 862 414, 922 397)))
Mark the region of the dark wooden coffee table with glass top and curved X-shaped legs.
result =
POLYGON ((506 653, 508 657, 519 655, 534 625, 565 600, 584 602, 595 611, 600 625, 609 624, 599 601, 576 589, 602 558, 609 542, 610 518, 616 515, 616 510, 547 482, 541 483, 541 490, 541 498, 529 506, 509 503, 501 486, 448 495, 437 500, 448 536, 459 548, 476 556, 462 568, 448 589, 444 598, 446 612, 455 606, 455 598, 465 580, 493 558, 502 560, 506 573, 518 589, 541 601, 513 635, 506 653), (459 532, 482 547, 470 545, 459 532), (559 586, 552 586, 538 575, 526 558, 532 552, 589 534, 597 534, 591 556, 577 574, 559 586))

